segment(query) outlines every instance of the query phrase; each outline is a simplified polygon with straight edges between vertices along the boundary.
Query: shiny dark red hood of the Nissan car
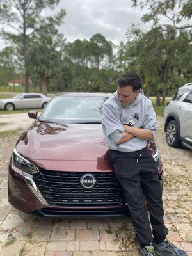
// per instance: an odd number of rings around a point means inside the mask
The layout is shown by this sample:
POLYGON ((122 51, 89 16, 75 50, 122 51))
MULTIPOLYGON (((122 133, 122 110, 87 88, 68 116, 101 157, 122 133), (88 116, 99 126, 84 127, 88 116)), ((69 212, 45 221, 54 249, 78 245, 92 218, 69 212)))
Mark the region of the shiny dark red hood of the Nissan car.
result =
POLYGON ((52 170, 55 170, 56 162, 80 170, 79 161, 88 169, 93 162, 100 170, 113 168, 100 124, 58 125, 36 120, 28 131, 21 134, 16 150, 32 163, 43 164, 52 170))

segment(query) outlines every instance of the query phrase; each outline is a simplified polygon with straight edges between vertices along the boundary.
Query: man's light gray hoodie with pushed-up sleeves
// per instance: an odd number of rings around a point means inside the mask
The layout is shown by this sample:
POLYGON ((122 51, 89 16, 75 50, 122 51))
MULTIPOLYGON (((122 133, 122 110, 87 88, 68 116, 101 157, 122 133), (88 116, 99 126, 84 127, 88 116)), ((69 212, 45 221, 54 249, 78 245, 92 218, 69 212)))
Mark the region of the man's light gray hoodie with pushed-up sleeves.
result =
POLYGON ((137 137, 116 145, 124 129, 122 124, 134 127, 157 130, 156 113, 150 99, 144 96, 143 90, 132 104, 122 106, 118 100, 117 92, 106 100, 103 106, 102 131, 109 149, 122 152, 134 152, 146 147, 147 140, 137 137))

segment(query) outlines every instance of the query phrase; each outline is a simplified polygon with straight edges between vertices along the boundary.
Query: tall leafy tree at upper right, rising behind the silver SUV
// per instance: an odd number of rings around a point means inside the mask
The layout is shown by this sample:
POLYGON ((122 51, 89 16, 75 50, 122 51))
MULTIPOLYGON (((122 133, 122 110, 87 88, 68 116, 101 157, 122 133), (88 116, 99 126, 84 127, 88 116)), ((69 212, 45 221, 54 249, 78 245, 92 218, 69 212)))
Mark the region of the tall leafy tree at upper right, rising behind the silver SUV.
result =
MULTIPOLYGON (((161 84, 163 85, 163 100, 162 104, 165 102, 165 97, 168 89, 168 81, 174 76, 175 69, 179 68, 179 60, 182 60, 183 66, 186 66, 188 62, 188 57, 184 53, 187 47, 190 47, 189 35, 192 28, 191 23, 191 1, 136 1, 132 0, 134 5, 140 4, 140 8, 143 9, 148 6, 148 13, 143 15, 143 22, 151 22, 152 29, 157 28, 161 30, 163 37, 161 37, 161 42, 159 38, 159 47, 161 47, 161 71, 159 72, 159 77, 161 84), (189 8, 189 9, 188 9, 189 8), (162 21, 163 20, 163 21, 162 21), (187 40, 186 40, 187 38, 187 40), (186 44, 185 44, 186 43, 186 44), (187 46, 187 47, 186 47, 187 46)), ((189 53, 191 56, 191 53, 189 53)), ((188 66, 188 65, 187 65, 188 66)), ((184 68, 180 66, 179 76, 183 76, 182 72, 184 68)))

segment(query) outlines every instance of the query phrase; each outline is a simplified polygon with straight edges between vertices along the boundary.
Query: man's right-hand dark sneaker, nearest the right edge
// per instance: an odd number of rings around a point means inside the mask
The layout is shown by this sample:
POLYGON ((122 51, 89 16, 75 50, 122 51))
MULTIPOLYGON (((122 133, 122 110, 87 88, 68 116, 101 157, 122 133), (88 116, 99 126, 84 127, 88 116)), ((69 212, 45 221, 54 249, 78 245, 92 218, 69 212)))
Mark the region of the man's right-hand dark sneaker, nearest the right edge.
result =
POLYGON ((153 241, 152 245, 154 246, 154 250, 156 250, 158 256, 188 256, 188 253, 177 248, 167 239, 161 244, 156 244, 156 241, 153 241))

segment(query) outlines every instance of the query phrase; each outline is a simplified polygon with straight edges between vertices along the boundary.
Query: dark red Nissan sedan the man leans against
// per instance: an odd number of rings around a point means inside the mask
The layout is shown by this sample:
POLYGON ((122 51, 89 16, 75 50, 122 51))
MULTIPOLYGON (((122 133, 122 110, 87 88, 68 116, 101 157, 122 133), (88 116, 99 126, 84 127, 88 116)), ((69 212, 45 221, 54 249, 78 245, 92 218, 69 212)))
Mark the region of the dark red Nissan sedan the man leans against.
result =
MULTIPOLYGON (((39 216, 128 215, 101 129, 111 94, 59 93, 20 135, 8 169, 8 200, 39 216)), ((153 140, 147 147, 163 166, 153 140)))

